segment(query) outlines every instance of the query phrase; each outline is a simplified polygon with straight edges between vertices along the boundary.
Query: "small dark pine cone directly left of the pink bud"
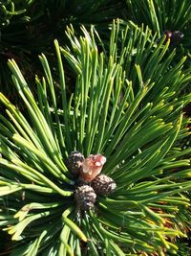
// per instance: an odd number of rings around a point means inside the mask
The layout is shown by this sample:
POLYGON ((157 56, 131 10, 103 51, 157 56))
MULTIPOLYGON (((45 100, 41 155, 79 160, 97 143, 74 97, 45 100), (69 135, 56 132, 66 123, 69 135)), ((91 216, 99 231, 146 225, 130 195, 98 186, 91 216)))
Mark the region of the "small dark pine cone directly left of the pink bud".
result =
POLYGON ((81 152, 72 151, 68 157, 67 167, 71 173, 77 175, 82 167, 84 156, 81 152))

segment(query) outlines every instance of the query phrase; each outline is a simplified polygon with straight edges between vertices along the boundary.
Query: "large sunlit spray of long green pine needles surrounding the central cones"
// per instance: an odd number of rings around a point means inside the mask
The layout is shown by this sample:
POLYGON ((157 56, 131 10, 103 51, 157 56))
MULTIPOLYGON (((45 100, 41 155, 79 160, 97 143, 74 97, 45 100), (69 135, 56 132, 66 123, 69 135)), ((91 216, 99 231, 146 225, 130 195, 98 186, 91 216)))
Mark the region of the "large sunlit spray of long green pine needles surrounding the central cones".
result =
POLYGON ((191 94, 180 95, 191 80, 186 58, 175 63, 170 40, 157 42, 148 27, 114 22, 108 47, 94 27, 82 31, 68 28, 68 47, 54 41, 56 67, 40 56, 36 98, 9 61, 29 115, 0 94, 7 108, 0 115, 0 225, 11 235, 11 255, 176 253, 176 238, 186 237, 176 218, 191 188, 191 149, 177 147, 189 135, 182 109, 191 94), (75 74, 70 98, 62 57, 75 74), (102 173, 117 183, 92 210, 76 209, 71 151, 106 156, 102 173))

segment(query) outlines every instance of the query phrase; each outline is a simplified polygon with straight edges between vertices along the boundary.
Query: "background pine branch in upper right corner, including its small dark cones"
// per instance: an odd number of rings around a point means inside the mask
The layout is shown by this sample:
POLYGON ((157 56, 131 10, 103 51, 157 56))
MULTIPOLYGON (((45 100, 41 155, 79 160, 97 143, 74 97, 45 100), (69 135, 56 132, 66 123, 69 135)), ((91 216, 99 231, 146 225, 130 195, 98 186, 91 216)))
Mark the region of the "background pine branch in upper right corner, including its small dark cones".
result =
POLYGON ((139 26, 147 25, 157 35, 170 35, 171 47, 178 49, 177 58, 187 55, 191 63, 191 5, 189 0, 125 0, 123 19, 139 26))

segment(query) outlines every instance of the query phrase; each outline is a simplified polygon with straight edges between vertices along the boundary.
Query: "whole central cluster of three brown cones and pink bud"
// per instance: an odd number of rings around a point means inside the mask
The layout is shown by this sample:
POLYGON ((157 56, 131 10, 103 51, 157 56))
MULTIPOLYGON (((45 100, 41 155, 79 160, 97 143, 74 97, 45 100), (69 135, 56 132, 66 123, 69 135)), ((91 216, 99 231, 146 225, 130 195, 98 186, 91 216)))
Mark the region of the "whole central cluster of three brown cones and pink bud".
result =
POLYGON ((74 199, 78 209, 94 207, 96 195, 105 196, 116 189, 117 184, 111 177, 100 175, 105 162, 106 157, 100 153, 91 154, 87 158, 78 151, 70 153, 68 169, 77 176, 74 199))

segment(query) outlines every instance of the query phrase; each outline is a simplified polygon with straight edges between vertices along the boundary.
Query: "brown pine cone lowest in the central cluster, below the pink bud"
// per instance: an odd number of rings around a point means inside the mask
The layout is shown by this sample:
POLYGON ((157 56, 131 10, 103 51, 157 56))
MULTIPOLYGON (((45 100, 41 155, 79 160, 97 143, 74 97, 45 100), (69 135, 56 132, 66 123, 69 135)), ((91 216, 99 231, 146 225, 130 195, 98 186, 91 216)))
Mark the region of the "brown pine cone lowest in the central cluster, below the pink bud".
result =
POLYGON ((96 201, 96 193, 92 187, 83 185, 75 190, 74 199, 78 209, 88 210, 94 207, 96 201))

